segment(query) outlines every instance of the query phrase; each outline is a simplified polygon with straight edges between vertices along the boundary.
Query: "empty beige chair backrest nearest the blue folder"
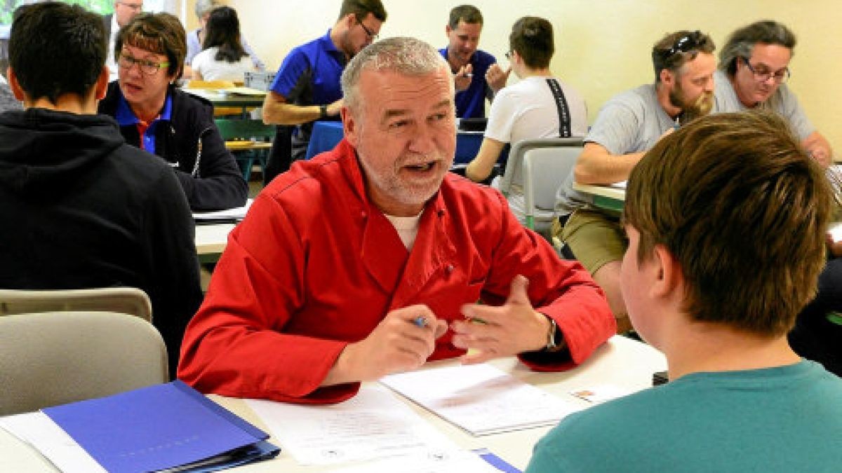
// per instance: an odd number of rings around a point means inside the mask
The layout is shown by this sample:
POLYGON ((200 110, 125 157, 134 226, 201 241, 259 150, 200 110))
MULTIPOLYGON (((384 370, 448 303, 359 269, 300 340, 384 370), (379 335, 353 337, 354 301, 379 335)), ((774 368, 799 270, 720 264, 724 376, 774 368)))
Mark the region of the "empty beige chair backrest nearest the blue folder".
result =
POLYGON ((116 312, 0 317, 0 416, 168 381, 152 324, 116 312))

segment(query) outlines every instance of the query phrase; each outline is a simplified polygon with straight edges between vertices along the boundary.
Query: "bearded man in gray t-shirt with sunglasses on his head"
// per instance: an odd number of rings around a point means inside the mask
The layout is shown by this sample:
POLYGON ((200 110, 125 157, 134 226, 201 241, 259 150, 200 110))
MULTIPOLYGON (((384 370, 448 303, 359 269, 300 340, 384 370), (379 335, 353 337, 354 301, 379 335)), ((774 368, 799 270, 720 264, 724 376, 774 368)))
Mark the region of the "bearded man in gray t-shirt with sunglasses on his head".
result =
POLYGON ((553 235, 567 243, 605 290, 618 332, 632 328, 620 293, 620 263, 628 241, 618 215, 592 207, 588 195, 573 190, 573 181, 625 181, 643 153, 663 136, 709 113, 714 49, 713 40, 701 31, 678 31, 658 40, 652 49, 655 82, 620 93, 600 109, 573 173, 558 190, 556 209, 561 217, 553 235))

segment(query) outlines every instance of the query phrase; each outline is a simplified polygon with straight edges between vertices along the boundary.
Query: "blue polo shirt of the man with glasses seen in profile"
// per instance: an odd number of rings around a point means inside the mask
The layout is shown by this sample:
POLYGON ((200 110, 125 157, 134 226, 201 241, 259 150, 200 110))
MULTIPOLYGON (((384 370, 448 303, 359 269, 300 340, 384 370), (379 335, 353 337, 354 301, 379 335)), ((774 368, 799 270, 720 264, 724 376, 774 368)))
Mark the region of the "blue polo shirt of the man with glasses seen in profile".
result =
MULTIPOLYGON (((269 90, 279 93, 290 104, 333 104, 342 98, 340 79, 345 68, 345 54, 330 40, 330 29, 324 36, 296 46, 286 55, 274 76, 269 90)), ((330 117, 327 120, 339 120, 330 117)), ((294 158, 303 158, 310 141, 312 122, 296 126, 292 137, 294 158)))

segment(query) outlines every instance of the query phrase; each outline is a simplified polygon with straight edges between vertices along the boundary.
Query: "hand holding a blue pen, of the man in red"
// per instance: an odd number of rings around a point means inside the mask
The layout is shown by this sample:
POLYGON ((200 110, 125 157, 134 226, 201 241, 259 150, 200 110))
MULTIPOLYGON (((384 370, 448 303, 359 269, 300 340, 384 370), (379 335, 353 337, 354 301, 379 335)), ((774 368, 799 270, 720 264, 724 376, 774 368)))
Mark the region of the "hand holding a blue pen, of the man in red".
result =
POLYGON ((435 339, 445 332, 447 322, 436 318, 427 306, 391 311, 368 337, 345 347, 322 385, 378 380, 417 369, 433 353, 435 339))

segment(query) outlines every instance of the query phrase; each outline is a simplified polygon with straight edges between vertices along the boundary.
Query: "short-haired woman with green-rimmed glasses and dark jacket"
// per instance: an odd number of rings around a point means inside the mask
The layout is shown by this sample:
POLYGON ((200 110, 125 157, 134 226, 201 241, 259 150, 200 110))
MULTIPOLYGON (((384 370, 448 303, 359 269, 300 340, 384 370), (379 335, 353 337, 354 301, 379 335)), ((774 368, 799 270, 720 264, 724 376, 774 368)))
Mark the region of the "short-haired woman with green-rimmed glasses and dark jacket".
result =
POLYGON ((163 157, 175 170, 190 208, 244 205, 248 185, 213 121, 213 105, 176 85, 184 67, 184 27, 169 13, 141 13, 115 42, 119 79, 99 113, 109 114, 132 146, 163 157))

